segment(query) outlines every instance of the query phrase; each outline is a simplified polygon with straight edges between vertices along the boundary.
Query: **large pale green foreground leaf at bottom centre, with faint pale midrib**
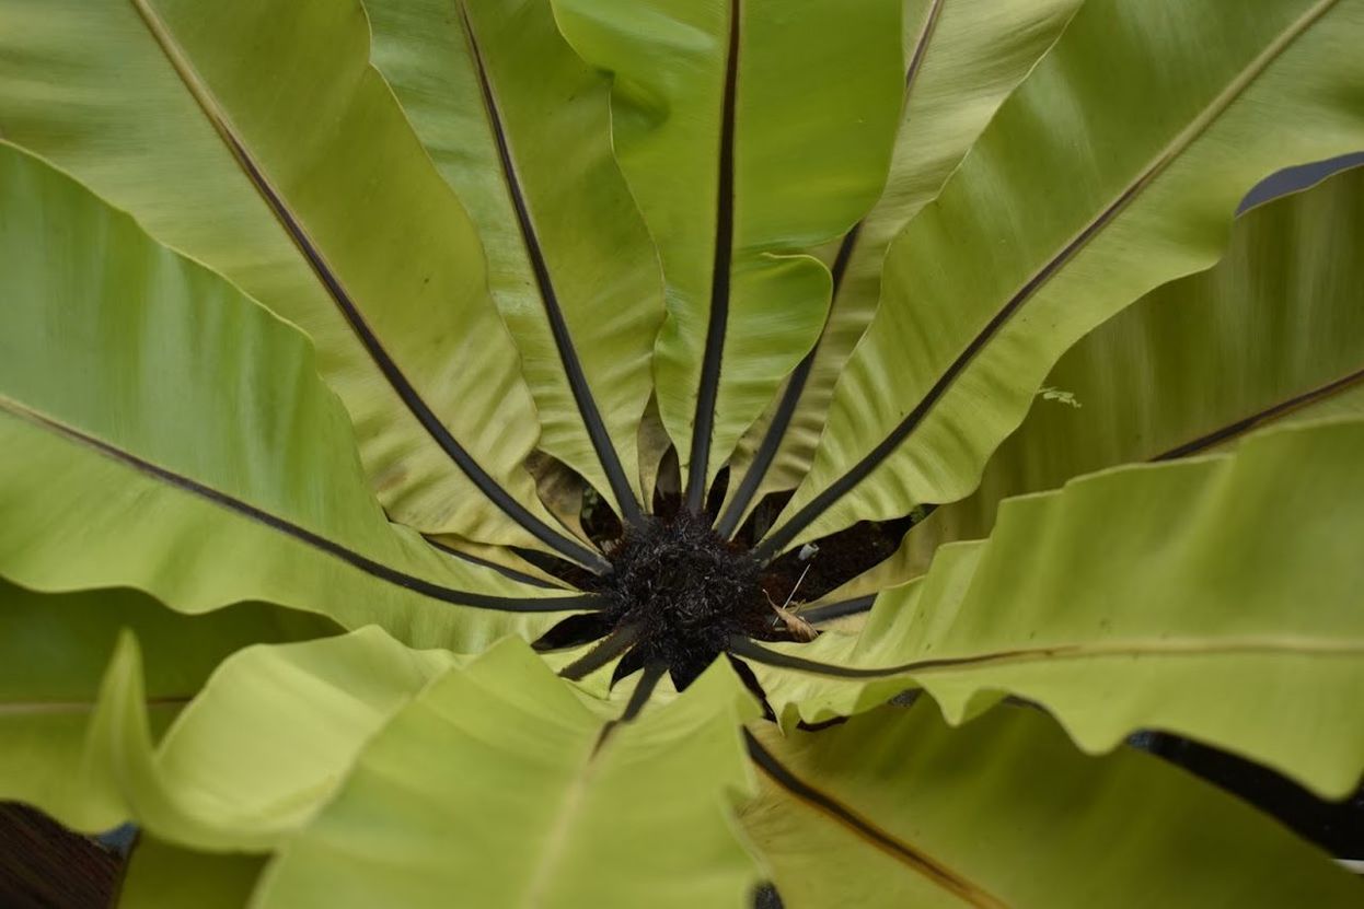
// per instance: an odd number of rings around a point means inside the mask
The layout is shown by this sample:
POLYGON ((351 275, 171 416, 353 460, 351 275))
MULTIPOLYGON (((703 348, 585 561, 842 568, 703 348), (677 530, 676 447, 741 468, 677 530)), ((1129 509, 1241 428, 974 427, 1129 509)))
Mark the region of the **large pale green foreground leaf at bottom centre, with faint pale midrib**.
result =
POLYGON ((758 874, 730 803, 752 793, 738 724, 756 715, 722 662, 602 741, 603 720, 507 642, 371 741, 255 905, 746 906, 758 874))

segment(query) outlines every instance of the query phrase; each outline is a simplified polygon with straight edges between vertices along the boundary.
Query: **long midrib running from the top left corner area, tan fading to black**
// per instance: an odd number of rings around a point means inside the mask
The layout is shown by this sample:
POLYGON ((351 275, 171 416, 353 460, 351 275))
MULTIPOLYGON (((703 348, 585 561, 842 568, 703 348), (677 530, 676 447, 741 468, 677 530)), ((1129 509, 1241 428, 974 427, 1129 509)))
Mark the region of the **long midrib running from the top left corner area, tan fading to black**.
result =
POLYGON ((151 37, 155 40, 157 46, 161 48, 168 63, 170 63, 172 68, 175 68, 176 74, 180 76, 186 90, 191 97, 194 97, 205 117, 213 125, 224 144, 226 144, 233 159, 243 169, 256 192, 261 194, 262 200, 274 214, 280 226, 284 228, 295 247, 300 253, 303 253, 308 267, 341 311, 341 315, 345 318, 356 338, 360 341, 361 348, 374 361, 375 367, 387 380, 393 391, 402 401, 408 412, 416 417, 431 439, 442 448, 442 451, 446 452, 454 465, 479 489, 479 492, 481 492, 494 506, 501 508, 503 514, 520 525, 527 533, 562 556, 573 559, 593 571, 610 571, 610 563, 607 563, 600 553, 596 553, 576 540, 570 540, 569 537, 558 533, 554 527, 531 514, 525 506, 517 502, 477 463, 477 461, 475 461, 464 446, 461 446, 460 442, 450 433, 445 424, 441 422, 417 390, 389 356, 387 350, 385 350, 379 338, 370 328, 368 323, 366 323, 359 307, 356 307, 355 301, 346 293, 336 274, 333 274, 331 268, 327 266, 318 248, 312 244, 312 240, 307 236, 297 218, 293 217, 293 213, 289 211, 288 206, 285 206, 284 199, 274 191, 274 187, 271 187, 269 180, 266 180, 265 173, 251 158, 241 142, 236 138, 236 134, 228 124, 226 116, 217 109, 216 101, 209 95, 207 87, 202 84, 202 80, 192 72, 190 63, 184 60, 183 55, 173 45, 166 26, 151 10, 146 7, 145 0, 131 0, 131 3, 142 18, 147 31, 151 33, 151 37))

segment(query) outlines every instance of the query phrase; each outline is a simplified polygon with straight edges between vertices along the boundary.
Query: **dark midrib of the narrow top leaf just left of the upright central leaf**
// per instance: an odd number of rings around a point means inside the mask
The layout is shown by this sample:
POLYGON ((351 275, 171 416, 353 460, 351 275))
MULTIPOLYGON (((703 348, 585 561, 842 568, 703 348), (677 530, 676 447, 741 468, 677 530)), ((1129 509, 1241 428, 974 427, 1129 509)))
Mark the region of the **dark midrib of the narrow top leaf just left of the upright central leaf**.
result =
POLYGON ((550 323, 550 334, 554 338, 554 348, 559 354, 559 363, 563 367, 563 375, 567 379, 569 391, 573 394, 573 401, 578 407, 578 416, 582 418, 582 425, 588 432, 588 439, 592 443, 592 450, 596 452, 597 462, 602 465, 603 473, 606 473, 607 482, 611 484, 611 493, 615 496, 615 500, 621 507, 622 518, 633 526, 640 526, 644 523, 644 512, 640 510, 640 503, 634 496, 634 489, 626 478, 625 466, 621 463, 621 457, 615 450, 615 444, 611 442, 611 433, 607 431, 606 421, 602 418, 602 412, 597 407, 596 398, 592 395, 592 387, 582 369, 582 361, 578 357, 577 348, 573 345, 573 335, 569 331, 567 320, 563 316, 563 308, 559 305, 559 297, 554 289, 554 281, 550 275, 550 266, 544 258, 544 251, 540 247, 540 238, 536 234, 535 224, 531 218, 531 210, 525 200, 525 194, 521 189, 521 180, 517 177, 516 162, 512 159, 510 143, 507 140, 506 128, 502 123, 502 113, 498 108, 496 95, 492 90, 492 80, 488 75, 487 64, 483 60, 483 49, 479 45, 479 38, 473 30, 473 22, 469 18, 466 4, 461 0, 458 5, 460 16, 464 20, 464 31, 469 41, 473 65, 477 71, 479 87, 483 93, 483 104, 488 117, 488 127, 498 149, 498 162, 502 168, 502 177, 506 183, 507 195, 512 200, 512 209, 516 213, 517 226, 521 232, 521 240, 525 245, 527 258, 531 260, 531 271, 535 275, 535 283, 540 292, 540 301, 544 305, 544 313, 550 323))

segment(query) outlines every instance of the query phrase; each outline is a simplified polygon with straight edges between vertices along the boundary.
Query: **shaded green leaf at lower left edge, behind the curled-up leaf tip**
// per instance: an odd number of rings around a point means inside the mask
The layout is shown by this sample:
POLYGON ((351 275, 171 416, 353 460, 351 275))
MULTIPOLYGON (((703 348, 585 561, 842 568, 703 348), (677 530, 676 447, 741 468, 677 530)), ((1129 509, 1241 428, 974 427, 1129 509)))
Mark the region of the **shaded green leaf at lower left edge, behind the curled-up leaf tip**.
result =
POLYGON ((134 631, 147 656, 155 736, 236 650, 336 632, 325 619, 258 602, 184 616, 132 590, 38 594, 0 581, 0 799, 90 833, 124 820, 108 767, 89 747, 120 628, 134 631))

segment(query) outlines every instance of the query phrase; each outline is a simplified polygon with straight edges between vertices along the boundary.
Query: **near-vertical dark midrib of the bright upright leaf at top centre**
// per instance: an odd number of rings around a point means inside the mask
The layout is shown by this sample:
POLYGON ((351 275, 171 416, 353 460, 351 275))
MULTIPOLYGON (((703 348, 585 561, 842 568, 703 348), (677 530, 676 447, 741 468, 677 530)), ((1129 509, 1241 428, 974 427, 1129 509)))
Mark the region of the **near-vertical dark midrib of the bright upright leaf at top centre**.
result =
POLYGON ((730 34, 724 60, 724 97, 720 108, 720 149, 715 207, 715 259, 711 268, 711 311, 705 327, 705 353, 692 421, 692 454, 687 466, 686 504, 694 514, 705 506, 715 433, 715 406, 720 394, 720 365, 730 320, 730 264, 734 259, 734 112, 739 78, 739 4, 730 0, 730 34))

